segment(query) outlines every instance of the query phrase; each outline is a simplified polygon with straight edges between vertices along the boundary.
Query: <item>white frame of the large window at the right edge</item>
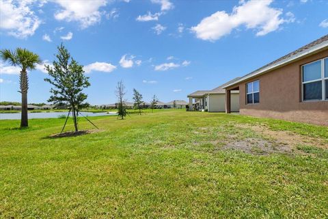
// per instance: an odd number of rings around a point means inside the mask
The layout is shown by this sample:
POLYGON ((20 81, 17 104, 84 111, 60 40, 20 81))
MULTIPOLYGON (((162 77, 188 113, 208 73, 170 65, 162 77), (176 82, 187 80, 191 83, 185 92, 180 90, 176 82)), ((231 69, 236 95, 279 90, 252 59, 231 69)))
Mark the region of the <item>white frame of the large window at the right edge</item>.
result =
POLYGON ((326 88, 325 86, 325 81, 328 80, 328 77, 325 77, 325 61, 328 61, 328 57, 323 57, 319 60, 314 60, 313 62, 309 62, 307 64, 303 64, 301 65, 301 96, 302 96, 302 102, 314 102, 314 101, 328 101, 328 98, 326 99, 326 90, 328 88, 326 88), (311 80, 311 81, 303 81, 303 76, 304 76, 304 73, 303 73, 303 66, 306 66, 308 64, 312 64, 314 62, 318 62, 320 61, 321 62, 321 77, 320 79, 314 79, 314 80, 311 80), (304 99, 304 84, 306 83, 313 83, 313 82, 318 82, 318 81, 321 81, 321 99, 313 99, 313 100, 305 100, 304 99))

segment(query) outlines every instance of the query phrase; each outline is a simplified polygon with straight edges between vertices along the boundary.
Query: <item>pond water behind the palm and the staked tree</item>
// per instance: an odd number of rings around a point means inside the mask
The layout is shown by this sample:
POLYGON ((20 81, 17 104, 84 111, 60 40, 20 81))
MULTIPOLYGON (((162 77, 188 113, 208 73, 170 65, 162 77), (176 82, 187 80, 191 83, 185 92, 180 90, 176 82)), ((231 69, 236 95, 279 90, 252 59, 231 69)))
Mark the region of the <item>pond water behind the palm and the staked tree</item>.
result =
MULTIPOLYGON (((29 112, 28 118, 58 118, 59 116, 67 116, 68 112, 29 112)), ((81 112, 83 116, 115 116, 116 112, 81 112)), ((72 113, 70 114, 72 116, 72 113)), ((80 117, 83 117, 79 115, 80 117)), ((3 119, 20 119, 20 113, 0 114, 0 120, 3 119)))

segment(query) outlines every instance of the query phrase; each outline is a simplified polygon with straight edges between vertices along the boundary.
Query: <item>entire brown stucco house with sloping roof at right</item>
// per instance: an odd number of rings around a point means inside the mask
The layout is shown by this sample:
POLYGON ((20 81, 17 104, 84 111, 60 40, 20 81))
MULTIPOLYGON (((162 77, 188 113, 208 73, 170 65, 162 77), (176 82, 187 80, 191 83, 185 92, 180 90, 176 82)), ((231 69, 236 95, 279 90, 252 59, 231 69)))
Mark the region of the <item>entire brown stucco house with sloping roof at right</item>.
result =
POLYGON ((226 112, 328 125, 328 35, 226 84, 226 112))

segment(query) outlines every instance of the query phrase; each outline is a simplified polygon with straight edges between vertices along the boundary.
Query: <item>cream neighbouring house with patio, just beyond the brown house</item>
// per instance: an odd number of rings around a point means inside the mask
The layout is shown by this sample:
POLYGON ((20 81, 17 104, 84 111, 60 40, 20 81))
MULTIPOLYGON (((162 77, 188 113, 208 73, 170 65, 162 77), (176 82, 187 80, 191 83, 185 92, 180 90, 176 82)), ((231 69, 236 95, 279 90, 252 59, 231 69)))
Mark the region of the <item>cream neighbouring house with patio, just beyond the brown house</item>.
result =
MULTIPOLYGON (((227 83, 232 83, 238 79, 232 79, 227 83)), ((223 89, 227 83, 214 88, 213 90, 197 90, 189 94, 189 110, 207 110, 208 112, 226 112, 226 90, 223 89)), ((239 91, 231 94, 231 111, 239 111, 239 91)))

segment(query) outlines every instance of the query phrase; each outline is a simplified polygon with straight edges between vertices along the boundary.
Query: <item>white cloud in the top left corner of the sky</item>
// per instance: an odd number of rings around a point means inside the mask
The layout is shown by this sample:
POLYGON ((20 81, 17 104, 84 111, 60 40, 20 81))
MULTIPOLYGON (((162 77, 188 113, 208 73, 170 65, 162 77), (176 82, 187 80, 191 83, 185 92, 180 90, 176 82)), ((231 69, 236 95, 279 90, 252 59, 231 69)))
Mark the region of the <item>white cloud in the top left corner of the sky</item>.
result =
POLYGON ((0 28, 16 38, 32 36, 41 21, 31 10, 33 1, 0 0, 0 28))

